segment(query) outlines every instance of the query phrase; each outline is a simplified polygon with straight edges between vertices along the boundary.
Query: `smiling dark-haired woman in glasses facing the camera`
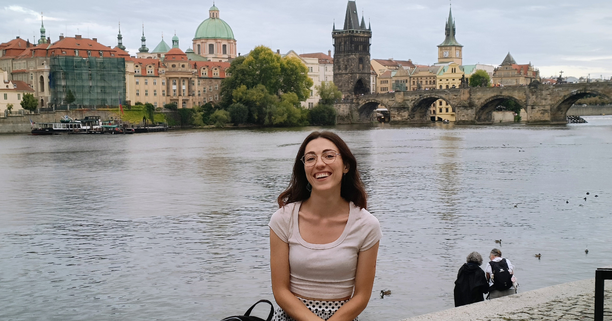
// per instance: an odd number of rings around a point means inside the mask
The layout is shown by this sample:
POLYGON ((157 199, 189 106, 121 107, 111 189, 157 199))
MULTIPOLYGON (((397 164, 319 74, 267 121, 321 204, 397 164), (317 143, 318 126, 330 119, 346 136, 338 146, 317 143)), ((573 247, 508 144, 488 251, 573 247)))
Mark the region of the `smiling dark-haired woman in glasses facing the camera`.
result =
POLYGON ((349 321, 364 311, 382 237, 366 197, 346 143, 308 135, 269 224, 274 320, 349 321))

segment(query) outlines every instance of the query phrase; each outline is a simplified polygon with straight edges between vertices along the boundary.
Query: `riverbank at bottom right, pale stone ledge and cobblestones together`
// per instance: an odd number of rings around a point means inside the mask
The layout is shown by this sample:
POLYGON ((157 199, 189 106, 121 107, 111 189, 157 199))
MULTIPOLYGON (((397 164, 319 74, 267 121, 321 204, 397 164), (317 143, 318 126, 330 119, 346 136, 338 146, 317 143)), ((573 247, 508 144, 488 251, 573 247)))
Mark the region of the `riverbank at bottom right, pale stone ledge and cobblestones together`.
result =
MULTIPOLYGON (((594 292, 595 279, 584 279, 401 321, 593 320, 594 292)), ((610 281, 606 284, 604 304, 604 320, 612 320, 610 281)))

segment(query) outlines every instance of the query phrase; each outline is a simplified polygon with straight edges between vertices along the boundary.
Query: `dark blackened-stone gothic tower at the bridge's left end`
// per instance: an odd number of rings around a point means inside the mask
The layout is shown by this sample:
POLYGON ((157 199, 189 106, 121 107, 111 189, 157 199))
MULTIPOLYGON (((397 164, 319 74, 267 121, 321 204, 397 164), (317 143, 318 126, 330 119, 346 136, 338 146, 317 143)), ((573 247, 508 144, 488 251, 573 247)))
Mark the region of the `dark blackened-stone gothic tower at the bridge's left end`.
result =
POLYGON ((346 6, 344 28, 332 31, 334 39, 334 83, 344 98, 370 94, 370 26, 357 16, 355 1, 346 6))

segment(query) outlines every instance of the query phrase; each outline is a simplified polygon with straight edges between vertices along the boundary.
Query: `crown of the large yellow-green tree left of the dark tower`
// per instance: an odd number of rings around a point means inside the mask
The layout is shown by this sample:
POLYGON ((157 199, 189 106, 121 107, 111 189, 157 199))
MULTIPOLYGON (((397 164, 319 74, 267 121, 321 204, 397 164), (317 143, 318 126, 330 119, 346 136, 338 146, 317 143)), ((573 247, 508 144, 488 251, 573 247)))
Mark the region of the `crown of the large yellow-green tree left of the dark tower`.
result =
MULTIPOLYGON (((293 92, 300 101, 306 100, 312 87, 308 68, 296 57, 281 57, 266 46, 256 46, 247 57, 237 57, 221 83, 222 106, 228 108, 239 102, 234 91, 241 86, 250 90, 263 86, 265 92, 280 98, 293 92)), ((248 105, 247 105, 248 106, 248 105)))

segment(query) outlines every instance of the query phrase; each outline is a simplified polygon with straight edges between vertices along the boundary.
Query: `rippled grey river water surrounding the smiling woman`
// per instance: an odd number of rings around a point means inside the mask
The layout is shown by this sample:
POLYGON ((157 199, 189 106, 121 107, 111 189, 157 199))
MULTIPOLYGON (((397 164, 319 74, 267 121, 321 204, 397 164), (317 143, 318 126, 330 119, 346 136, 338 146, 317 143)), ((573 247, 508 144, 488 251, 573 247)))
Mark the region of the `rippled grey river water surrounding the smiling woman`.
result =
MULTIPOLYGON (((466 255, 496 239, 521 292, 612 264, 612 118, 586 119, 335 127, 384 234, 360 320, 451 308, 466 255)), ((0 136, 0 320, 220 320, 272 300, 267 222, 314 129, 0 136)))

